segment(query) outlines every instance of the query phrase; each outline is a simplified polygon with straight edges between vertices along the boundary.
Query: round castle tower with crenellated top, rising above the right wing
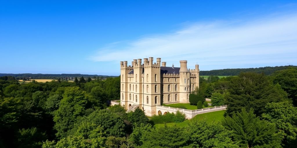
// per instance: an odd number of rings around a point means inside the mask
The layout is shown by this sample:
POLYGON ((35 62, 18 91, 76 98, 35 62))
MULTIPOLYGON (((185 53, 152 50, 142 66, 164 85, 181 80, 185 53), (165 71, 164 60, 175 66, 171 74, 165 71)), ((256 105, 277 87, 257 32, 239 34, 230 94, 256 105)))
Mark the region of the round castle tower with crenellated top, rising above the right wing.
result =
POLYGON ((189 102, 190 71, 187 68, 187 60, 181 60, 179 63, 179 101, 186 103, 189 102))

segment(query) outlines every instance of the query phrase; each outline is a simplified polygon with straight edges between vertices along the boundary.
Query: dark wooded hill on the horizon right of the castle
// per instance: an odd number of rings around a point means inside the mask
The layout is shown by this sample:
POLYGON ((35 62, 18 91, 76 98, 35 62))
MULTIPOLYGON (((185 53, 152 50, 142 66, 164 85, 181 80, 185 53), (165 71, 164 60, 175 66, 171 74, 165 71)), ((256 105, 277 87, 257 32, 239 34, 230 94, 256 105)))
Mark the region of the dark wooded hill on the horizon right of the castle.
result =
POLYGON ((236 69, 220 69, 220 70, 209 70, 200 71, 199 75, 239 75, 241 72, 255 72, 264 73, 265 75, 271 75, 277 70, 287 69, 288 67, 296 67, 293 65, 288 66, 275 66, 275 67, 259 67, 259 68, 236 68, 236 69))

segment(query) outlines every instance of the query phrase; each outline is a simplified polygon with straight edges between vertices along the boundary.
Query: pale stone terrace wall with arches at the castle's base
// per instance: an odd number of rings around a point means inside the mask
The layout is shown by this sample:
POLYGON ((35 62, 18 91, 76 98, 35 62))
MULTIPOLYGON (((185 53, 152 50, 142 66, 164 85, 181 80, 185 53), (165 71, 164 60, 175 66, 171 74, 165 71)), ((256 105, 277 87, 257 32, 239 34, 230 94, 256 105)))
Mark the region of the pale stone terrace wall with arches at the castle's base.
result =
POLYGON ((186 110, 186 109, 157 105, 156 114, 160 114, 160 113, 164 114, 164 113, 168 113, 168 112, 176 113, 179 110, 180 112, 183 112, 184 114, 186 114, 187 119, 191 119, 198 114, 202 114, 202 113, 206 113, 206 112, 214 112, 214 111, 218 111, 218 110, 226 110, 226 108, 227 108, 227 106, 224 105, 224 106, 218 106, 218 107, 203 108, 203 109, 199 109, 199 110, 186 110))

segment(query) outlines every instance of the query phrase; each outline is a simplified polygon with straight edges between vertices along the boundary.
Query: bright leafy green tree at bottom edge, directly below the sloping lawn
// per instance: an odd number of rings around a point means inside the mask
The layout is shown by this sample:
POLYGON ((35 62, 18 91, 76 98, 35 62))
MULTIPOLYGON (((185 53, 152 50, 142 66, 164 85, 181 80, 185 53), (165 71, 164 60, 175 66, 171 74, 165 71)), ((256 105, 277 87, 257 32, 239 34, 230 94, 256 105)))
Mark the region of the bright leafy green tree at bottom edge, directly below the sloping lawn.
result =
POLYGON ((232 131, 225 129, 219 123, 207 123, 205 120, 194 120, 186 127, 189 144, 201 148, 237 148, 237 142, 232 141, 232 131))

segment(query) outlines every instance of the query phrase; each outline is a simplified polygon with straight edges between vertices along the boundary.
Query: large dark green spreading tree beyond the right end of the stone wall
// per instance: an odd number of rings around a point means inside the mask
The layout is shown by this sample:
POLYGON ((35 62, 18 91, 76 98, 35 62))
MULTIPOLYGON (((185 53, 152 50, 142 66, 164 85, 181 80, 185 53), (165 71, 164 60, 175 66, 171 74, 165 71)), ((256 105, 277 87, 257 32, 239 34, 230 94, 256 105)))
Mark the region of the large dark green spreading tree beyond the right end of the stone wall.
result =
POLYGON ((267 103, 287 99, 286 93, 263 74, 241 73, 231 79, 229 90, 230 94, 226 95, 227 115, 240 111, 241 108, 254 108, 256 115, 260 116, 267 103))

